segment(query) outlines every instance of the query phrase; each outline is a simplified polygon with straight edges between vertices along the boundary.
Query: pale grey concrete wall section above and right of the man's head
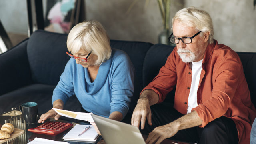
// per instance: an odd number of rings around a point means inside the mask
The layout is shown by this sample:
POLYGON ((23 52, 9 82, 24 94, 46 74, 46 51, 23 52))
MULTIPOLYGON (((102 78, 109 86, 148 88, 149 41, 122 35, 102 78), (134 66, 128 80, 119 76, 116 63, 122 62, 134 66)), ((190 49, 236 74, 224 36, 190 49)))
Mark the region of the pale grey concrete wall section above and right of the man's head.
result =
POLYGON ((195 6, 212 17, 219 43, 235 51, 256 52, 256 10, 253 0, 185 0, 184 7, 195 6))

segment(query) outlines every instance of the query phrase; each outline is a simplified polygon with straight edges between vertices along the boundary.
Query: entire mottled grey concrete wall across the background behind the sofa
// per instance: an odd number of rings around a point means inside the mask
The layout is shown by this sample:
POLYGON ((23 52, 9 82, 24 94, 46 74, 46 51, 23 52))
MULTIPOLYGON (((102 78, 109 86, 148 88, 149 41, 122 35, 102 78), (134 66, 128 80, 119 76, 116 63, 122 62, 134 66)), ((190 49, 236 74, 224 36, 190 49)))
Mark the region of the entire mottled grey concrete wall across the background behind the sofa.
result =
MULTIPOLYGON (((111 39, 157 43, 162 31, 156 0, 85 0, 86 20, 98 20, 111 39), (130 12, 130 5, 137 1, 130 12)), ((256 10, 253 0, 171 0, 170 17, 195 6, 212 16, 215 37, 235 51, 256 52, 256 10), (184 1, 184 5, 182 2, 184 1)), ((27 34, 26 0, 0 0, 0 20, 7 32, 27 34)))

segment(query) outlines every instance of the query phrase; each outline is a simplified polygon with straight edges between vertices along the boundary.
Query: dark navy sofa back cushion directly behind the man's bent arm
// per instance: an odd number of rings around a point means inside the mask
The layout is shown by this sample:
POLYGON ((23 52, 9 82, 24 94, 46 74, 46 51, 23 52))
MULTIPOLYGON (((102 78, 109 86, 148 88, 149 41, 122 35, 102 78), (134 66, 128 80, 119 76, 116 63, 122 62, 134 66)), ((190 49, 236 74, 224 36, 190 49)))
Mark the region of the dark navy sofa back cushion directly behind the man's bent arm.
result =
MULTIPOLYGON (((155 44, 148 50, 143 64, 143 87, 152 82, 153 78, 159 73, 160 68, 166 63, 173 49, 174 46, 155 44)), ((164 102, 174 102, 175 89, 169 92, 164 102)))

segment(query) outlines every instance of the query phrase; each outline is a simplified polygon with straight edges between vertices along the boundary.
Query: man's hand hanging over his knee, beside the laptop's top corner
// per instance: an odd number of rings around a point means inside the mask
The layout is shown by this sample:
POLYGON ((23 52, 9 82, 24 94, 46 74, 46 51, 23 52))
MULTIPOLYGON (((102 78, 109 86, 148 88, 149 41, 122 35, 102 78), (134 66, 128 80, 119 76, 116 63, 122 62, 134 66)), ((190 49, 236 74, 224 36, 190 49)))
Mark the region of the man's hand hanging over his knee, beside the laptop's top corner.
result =
POLYGON ((152 125, 149 100, 140 98, 132 113, 132 125, 139 127, 141 122, 141 129, 144 129, 146 119, 148 119, 148 124, 152 125))

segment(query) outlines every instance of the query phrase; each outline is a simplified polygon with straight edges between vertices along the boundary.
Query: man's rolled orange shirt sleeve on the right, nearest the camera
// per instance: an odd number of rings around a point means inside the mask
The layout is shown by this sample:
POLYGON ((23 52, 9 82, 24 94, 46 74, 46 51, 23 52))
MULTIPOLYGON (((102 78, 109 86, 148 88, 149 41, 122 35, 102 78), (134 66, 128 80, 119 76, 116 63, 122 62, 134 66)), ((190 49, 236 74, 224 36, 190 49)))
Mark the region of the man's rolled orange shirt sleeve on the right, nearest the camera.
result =
POLYGON ((206 126, 226 113, 234 98, 242 73, 242 64, 237 59, 229 58, 216 62, 211 98, 191 110, 195 110, 203 120, 200 127, 206 126))

